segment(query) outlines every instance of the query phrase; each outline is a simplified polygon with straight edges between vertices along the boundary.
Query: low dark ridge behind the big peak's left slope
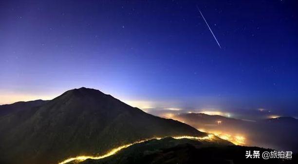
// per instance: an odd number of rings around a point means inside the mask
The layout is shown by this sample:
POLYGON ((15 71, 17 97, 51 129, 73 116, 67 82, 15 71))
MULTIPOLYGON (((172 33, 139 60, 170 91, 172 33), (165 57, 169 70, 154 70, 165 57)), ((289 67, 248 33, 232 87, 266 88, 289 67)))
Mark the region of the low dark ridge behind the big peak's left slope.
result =
POLYGON ((22 110, 28 110, 33 107, 40 106, 46 102, 47 100, 37 99, 34 101, 27 101, 27 102, 19 101, 9 105, 0 105, 0 116, 7 115, 10 113, 15 113, 22 110))

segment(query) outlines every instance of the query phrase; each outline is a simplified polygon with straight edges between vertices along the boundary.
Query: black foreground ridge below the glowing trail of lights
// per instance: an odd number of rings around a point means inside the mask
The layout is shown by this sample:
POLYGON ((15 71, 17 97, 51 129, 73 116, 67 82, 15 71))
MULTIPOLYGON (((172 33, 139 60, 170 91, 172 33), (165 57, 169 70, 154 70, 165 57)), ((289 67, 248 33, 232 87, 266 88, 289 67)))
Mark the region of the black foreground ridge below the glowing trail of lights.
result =
POLYGON ((246 151, 271 151, 257 147, 202 143, 189 139, 165 138, 135 144, 100 160, 87 159, 79 164, 297 164, 293 160, 246 159, 246 151))

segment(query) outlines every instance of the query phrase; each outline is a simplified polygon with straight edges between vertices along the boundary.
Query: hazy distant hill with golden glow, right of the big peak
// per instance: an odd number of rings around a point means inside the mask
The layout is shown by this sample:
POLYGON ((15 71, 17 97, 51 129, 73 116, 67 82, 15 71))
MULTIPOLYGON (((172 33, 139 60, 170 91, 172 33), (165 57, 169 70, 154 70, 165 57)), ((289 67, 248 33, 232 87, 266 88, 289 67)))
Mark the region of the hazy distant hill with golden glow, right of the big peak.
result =
POLYGON ((298 119, 293 117, 252 121, 221 115, 186 113, 175 115, 175 119, 208 132, 242 134, 246 138, 245 143, 251 146, 298 152, 298 119))

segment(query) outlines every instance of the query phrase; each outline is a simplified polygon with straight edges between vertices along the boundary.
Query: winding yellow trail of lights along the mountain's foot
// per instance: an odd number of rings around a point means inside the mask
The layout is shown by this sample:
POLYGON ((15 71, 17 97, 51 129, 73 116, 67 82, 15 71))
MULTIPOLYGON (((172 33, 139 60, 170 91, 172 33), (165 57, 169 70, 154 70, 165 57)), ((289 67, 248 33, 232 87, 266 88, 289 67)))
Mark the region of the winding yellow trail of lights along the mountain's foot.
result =
MULTIPOLYGON (((213 134, 209 134, 209 135, 207 135, 205 137, 175 136, 175 137, 172 137, 172 138, 174 138, 174 139, 183 139, 183 138, 186 138, 186 139, 192 139, 192 140, 211 140, 213 138, 213 136, 214 136, 213 134)), ((109 157, 111 155, 116 154, 118 151, 122 150, 123 148, 128 148, 131 145, 142 143, 142 142, 149 141, 149 140, 152 140, 152 139, 160 140, 162 138, 156 137, 156 138, 151 138, 151 139, 137 141, 137 142, 134 142, 134 143, 131 143, 131 144, 127 144, 127 145, 122 145, 122 146, 120 146, 118 148, 113 148, 107 154, 104 154, 104 155, 101 155, 101 156, 77 156, 77 157, 72 157, 72 158, 69 158, 69 159, 66 159, 66 160, 60 162, 59 164, 67 164, 69 162, 74 162, 74 161, 75 162, 82 162, 82 161, 85 161, 87 159, 93 159, 93 160, 103 159, 103 158, 106 158, 106 157, 109 157)))

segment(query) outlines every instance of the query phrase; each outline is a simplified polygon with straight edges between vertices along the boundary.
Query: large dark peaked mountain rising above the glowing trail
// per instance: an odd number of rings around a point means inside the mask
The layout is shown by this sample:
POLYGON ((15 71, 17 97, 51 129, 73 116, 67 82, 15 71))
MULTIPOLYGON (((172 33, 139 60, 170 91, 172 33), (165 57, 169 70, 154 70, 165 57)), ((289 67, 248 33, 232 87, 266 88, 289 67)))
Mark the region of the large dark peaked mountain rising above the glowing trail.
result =
POLYGON ((1 164, 52 164, 155 136, 206 135, 84 87, 17 108, 0 116, 0 125, 1 164))

